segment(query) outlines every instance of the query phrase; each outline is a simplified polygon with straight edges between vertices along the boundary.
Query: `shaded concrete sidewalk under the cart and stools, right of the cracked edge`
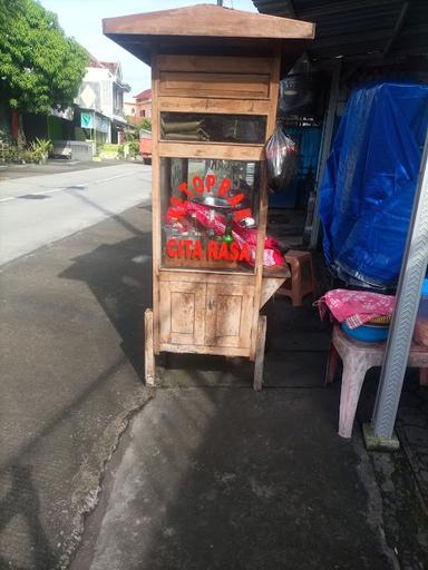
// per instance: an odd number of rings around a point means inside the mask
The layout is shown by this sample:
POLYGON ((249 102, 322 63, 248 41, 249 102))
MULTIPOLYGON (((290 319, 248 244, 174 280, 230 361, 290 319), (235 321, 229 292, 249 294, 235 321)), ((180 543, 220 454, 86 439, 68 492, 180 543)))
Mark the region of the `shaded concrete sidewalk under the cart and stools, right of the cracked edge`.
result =
MULTIPOLYGON (((414 444, 395 455, 362 444, 378 373, 353 439, 342 440, 340 384, 323 385, 329 326, 310 305, 275 301, 270 313, 262 393, 245 360, 164 358, 160 387, 108 465, 72 570, 427 568, 428 497, 409 461, 414 444)), ((410 373, 400 438, 417 422, 428 451, 427 400, 410 373)))

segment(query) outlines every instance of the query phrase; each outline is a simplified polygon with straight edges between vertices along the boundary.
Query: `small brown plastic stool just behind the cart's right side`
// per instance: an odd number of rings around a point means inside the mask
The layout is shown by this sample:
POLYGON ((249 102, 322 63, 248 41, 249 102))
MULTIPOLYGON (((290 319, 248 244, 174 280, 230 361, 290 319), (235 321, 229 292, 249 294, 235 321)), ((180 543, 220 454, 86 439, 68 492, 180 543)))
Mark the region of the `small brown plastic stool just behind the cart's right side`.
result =
POLYGON ((291 298, 293 307, 300 307, 305 295, 311 293, 315 296, 312 255, 309 252, 290 249, 284 255, 284 259, 291 269, 291 288, 281 287, 280 293, 291 298))

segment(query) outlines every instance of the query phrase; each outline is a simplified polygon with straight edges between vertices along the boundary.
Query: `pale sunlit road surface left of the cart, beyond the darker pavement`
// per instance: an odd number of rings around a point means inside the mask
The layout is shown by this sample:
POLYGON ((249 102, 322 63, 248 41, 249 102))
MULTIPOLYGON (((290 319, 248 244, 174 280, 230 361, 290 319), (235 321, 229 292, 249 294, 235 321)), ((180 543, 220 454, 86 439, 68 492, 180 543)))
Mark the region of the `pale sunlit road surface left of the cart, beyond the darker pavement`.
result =
POLYGON ((0 183, 0 264, 150 198, 152 169, 120 164, 0 183))

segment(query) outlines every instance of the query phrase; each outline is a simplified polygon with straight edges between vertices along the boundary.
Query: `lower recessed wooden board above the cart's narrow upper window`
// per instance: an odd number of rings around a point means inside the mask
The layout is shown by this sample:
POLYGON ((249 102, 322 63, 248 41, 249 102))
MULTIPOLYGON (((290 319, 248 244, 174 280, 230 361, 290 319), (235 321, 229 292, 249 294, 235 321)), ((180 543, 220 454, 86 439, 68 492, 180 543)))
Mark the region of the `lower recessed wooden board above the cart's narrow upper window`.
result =
POLYGON ((264 73, 204 73, 160 71, 159 96, 269 99, 264 73))

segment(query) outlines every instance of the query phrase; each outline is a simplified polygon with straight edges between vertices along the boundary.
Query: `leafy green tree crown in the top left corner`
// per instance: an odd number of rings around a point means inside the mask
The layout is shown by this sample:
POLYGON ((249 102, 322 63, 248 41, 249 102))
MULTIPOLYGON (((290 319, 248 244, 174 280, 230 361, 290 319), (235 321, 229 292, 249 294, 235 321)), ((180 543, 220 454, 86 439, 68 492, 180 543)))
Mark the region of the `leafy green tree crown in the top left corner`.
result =
POLYGON ((86 50, 35 0, 0 0, 0 94, 10 107, 47 114, 77 96, 86 50))

